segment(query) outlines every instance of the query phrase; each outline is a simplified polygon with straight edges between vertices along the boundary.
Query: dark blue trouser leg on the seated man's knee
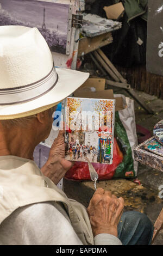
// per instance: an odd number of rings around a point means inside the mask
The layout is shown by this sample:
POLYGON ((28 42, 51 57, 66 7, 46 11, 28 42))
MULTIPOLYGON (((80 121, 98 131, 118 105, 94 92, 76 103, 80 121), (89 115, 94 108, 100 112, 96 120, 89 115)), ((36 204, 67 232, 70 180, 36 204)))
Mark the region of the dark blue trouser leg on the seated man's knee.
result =
POLYGON ((145 214, 124 212, 118 224, 118 238, 122 245, 151 245, 153 225, 145 214))

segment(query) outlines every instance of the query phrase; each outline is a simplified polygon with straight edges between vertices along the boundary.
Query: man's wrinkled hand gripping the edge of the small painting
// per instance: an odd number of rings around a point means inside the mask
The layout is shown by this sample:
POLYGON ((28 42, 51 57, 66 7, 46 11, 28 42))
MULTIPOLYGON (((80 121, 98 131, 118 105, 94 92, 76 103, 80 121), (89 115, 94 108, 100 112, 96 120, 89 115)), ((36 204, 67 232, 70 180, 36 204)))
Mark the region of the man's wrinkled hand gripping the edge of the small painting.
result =
POLYGON ((59 131, 49 152, 48 161, 41 168, 41 172, 57 185, 72 166, 73 163, 65 159, 65 131, 59 131))

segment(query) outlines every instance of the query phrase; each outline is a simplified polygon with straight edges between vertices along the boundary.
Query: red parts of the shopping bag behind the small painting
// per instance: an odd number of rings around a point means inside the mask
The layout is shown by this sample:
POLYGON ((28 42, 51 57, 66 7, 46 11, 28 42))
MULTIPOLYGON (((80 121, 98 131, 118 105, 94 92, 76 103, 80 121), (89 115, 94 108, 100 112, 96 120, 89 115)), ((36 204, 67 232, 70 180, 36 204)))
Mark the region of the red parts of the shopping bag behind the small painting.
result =
MULTIPOLYGON (((113 162, 112 164, 92 163, 99 180, 110 180, 115 174, 117 166, 122 162, 123 154, 118 147, 116 138, 114 138, 113 162)), ((89 167, 86 162, 75 162, 73 167, 68 170, 65 178, 70 180, 91 180, 89 167)))

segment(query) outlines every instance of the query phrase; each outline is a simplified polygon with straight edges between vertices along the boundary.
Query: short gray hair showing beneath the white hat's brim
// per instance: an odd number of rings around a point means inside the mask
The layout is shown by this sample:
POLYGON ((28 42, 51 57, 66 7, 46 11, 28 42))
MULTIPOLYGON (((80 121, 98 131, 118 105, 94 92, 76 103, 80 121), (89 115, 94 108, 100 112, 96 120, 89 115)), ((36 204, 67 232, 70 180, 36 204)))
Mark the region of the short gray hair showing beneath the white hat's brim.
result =
MULTIPOLYGON (((56 106, 48 109, 50 117, 52 117, 52 114, 55 111, 55 107, 56 106)), ((7 129, 9 129, 12 126, 27 127, 27 125, 30 123, 30 121, 32 121, 34 118, 36 118, 36 116, 37 116, 37 114, 34 114, 34 115, 29 115, 29 117, 21 117, 21 118, 9 119, 9 120, 0 120, 0 122, 7 129)))

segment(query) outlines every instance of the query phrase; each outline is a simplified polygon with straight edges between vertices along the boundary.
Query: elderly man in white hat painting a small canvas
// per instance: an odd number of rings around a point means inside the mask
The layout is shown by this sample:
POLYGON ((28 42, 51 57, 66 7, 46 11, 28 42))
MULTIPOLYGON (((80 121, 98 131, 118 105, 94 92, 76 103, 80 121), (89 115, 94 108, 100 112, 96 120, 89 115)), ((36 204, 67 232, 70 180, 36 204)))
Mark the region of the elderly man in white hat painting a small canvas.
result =
POLYGON ((123 198, 102 188, 89 207, 56 186, 72 166, 65 160, 64 131, 41 171, 37 144, 52 129, 52 113, 88 74, 55 69, 36 28, 0 27, 0 244, 148 245, 153 227, 139 212, 123 212, 123 198))

